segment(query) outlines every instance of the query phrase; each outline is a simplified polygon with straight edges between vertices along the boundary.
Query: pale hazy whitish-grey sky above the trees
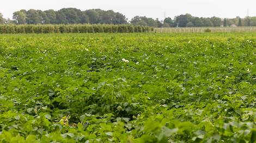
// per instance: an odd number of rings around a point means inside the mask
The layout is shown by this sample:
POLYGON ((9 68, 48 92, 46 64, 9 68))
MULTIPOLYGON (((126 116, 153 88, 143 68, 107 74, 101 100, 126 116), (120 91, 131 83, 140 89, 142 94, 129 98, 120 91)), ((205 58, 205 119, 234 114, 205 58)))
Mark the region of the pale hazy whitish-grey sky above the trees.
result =
POLYGON ((253 0, 1 0, 0 12, 5 18, 12 17, 14 11, 20 9, 59 10, 62 8, 103 9, 114 10, 124 14, 127 18, 147 16, 163 19, 164 11, 166 17, 174 17, 180 14, 192 14, 198 17, 227 17, 256 16, 256 1, 253 0))

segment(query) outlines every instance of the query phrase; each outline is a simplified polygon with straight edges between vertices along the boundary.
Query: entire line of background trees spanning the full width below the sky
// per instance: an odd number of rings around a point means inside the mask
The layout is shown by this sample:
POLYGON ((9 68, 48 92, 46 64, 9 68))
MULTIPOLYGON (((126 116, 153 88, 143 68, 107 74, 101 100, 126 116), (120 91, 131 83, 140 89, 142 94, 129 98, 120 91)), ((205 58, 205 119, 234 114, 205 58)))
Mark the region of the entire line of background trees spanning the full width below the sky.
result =
POLYGON ((135 16, 128 21, 125 15, 113 10, 76 8, 54 10, 20 10, 13 13, 13 19, 4 19, 0 14, 0 24, 132 24, 150 27, 229 27, 256 26, 256 17, 220 18, 195 17, 190 14, 170 17, 160 21, 145 16, 135 16))

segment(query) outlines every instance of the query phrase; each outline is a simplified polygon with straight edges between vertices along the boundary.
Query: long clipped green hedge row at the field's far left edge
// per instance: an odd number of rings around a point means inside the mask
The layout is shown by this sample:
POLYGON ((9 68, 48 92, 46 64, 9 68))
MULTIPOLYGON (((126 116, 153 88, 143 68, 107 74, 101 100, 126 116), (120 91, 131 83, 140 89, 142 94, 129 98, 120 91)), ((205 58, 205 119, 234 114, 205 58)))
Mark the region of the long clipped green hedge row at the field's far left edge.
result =
POLYGON ((151 32, 151 27, 108 24, 76 25, 0 25, 0 34, 16 33, 95 33, 95 32, 151 32))

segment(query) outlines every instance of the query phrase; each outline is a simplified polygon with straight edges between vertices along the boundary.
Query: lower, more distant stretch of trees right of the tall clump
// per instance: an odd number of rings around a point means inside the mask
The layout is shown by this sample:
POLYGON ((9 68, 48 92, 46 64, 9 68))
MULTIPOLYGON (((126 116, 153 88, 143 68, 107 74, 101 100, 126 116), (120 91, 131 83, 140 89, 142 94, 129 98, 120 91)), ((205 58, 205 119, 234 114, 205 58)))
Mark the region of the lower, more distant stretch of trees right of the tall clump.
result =
POLYGON ((190 14, 175 16, 174 19, 167 17, 163 21, 148 18, 145 16, 135 16, 131 19, 133 25, 148 25, 150 27, 246 27, 256 26, 256 17, 246 18, 219 18, 219 17, 194 17, 190 14))

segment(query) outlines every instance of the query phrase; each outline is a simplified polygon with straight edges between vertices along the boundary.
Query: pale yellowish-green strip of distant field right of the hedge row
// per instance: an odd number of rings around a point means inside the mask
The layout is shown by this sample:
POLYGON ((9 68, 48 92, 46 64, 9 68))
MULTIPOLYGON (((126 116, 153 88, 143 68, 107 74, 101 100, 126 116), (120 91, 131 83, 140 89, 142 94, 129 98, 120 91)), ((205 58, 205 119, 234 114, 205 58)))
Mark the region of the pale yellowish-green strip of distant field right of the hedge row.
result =
POLYGON ((205 32, 210 29, 211 32, 248 32, 256 31, 256 27, 193 27, 193 28, 155 28, 156 32, 205 32))

